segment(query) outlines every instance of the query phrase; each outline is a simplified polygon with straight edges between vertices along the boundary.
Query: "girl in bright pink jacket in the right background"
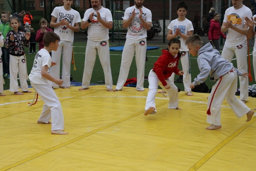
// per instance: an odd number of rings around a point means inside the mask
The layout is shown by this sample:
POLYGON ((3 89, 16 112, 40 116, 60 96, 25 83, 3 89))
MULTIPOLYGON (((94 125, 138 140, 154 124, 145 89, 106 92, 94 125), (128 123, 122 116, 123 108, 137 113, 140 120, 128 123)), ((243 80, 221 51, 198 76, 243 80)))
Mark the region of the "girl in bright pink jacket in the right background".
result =
POLYGON ((215 46, 215 49, 220 50, 220 35, 226 40, 226 36, 221 32, 220 14, 216 13, 213 19, 210 20, 210 27, 208 32, 209 42, 215 46))

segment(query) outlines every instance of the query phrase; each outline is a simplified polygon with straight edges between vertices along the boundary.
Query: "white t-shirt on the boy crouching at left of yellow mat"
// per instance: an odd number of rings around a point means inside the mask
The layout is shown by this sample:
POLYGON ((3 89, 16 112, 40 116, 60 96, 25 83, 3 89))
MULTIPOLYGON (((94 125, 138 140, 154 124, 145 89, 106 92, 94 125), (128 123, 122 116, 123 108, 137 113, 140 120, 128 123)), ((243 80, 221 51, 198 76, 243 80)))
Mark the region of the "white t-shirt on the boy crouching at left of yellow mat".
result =
POLYGON ((32 70, 29 74, 29 80, 32 81, 34 84, 48 84, 50 85, 50 81, 48 79, 45 79, 41 75, 42 67, 47 65, 48 70, 47 72, 50 72, 51 67, 51 56, 49 52, 46 49, 41 49, 37 52, 35 55, 35 60, 33 63, 32 70))

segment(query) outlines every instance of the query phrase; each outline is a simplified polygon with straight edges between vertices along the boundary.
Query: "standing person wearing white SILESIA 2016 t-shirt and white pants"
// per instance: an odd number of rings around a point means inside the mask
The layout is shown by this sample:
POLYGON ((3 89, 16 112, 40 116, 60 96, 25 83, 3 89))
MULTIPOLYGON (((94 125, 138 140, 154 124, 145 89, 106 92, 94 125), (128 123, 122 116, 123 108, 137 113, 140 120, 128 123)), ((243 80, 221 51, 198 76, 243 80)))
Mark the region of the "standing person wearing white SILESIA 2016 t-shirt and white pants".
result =
MULTIPOLYGON (((58 79, 60 72, 60 57, 62 53, 62 79, 61 88, 67 89, 70 86, 70 64, 72 60, 72 49, 74 31, 79 32, 80 14, 71 8, 73 0, 63 0, 64 5, 55 7, 52 12, 50 26, 54 27, 54 33, 60 37, 59 48, 52 52, 52 61, 57 65, 51 68, 50 74, 58 79)), ((52 87, 58 87, 54 82, 52 87)))

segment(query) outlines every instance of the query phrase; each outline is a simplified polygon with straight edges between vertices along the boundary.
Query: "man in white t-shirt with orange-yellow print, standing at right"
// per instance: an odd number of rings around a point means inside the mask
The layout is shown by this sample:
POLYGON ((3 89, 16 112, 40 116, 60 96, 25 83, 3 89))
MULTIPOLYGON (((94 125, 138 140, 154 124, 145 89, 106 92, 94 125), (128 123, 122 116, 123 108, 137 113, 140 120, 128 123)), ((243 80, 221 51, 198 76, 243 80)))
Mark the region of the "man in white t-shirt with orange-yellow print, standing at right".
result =
MULTIPOLYGON (((224 20, 221 26, 221 32, 227 33, 227 39, 225 41, 221 56, 231 62, 232 58, 236 54, 237 69, 242 72, 248 71, 247 65, 247 42, 246 36, 241 32, 238 32, 237 28, 248 29, 248 25, 244 23, 244 18, 252 17, 251 10, 243 5, 243 0, 232 1, 233 7, 228 8, 225 11, 224 20), (231 26, 232 25, 232 26, 231 26)), ((240 82, 240 100, 245 103, 248 99, 248 78, 239 76, 240 82)))

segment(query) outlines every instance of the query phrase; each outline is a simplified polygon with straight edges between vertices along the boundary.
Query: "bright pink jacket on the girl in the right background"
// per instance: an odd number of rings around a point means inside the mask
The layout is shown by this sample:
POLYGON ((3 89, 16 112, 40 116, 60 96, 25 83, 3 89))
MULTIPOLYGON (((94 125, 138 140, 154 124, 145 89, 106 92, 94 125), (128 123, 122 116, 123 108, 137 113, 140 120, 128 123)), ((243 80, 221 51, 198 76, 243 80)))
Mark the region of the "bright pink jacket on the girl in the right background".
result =
POLYGON ((210 27, 209 27, 209 32, 208 32, 208 40, 217 40, 223 37, 226 39, 226 36, 221 32, 221 25, 219 21, 215 20, 210 20, 210 27))

